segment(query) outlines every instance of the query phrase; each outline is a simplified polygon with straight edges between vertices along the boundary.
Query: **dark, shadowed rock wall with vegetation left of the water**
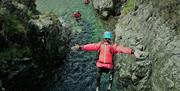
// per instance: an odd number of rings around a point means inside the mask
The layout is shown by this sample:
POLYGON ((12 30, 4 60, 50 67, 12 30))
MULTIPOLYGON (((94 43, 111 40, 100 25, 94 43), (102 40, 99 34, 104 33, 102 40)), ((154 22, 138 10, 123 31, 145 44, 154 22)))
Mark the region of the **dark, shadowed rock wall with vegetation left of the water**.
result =
POLYGON ((40 15, 34 0, 0 0, 0 90, 41 91, 68 51, 59 19, 40 15))

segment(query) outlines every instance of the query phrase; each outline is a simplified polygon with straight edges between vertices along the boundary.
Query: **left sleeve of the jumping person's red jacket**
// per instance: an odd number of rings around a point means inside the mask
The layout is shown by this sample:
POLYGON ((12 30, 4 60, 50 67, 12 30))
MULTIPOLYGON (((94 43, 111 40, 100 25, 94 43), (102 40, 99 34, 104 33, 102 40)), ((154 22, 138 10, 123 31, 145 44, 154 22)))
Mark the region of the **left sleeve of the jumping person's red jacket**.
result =
POLYGON ((93 43, 93 44, 86 44, 86 45, 81 45, 80 50, 84 51, 98 51, 100 47, 100 43, 93 43))

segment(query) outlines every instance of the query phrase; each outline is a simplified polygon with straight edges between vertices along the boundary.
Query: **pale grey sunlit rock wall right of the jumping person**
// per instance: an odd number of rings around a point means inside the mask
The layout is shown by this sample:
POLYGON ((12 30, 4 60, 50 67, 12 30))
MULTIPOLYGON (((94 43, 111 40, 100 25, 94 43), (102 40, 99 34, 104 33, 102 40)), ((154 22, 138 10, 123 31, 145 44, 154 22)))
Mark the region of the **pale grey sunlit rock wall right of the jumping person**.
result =
POLYGON ((142 46, 141 50, 149 52, 149 56, 138 62, 131 56, 117 56, 121 69, 116 75, 116 88, 121 91, 179 91, 179 14, 174 12, 179 11, 180 5, 175 0, 171 1, 173 6, 164 4, 165 0, 137 2, 137 10, 120 16, 114 30, 115 40, 134 49, 142 46), (174 11, 170 7, 175 8, 174 11))

